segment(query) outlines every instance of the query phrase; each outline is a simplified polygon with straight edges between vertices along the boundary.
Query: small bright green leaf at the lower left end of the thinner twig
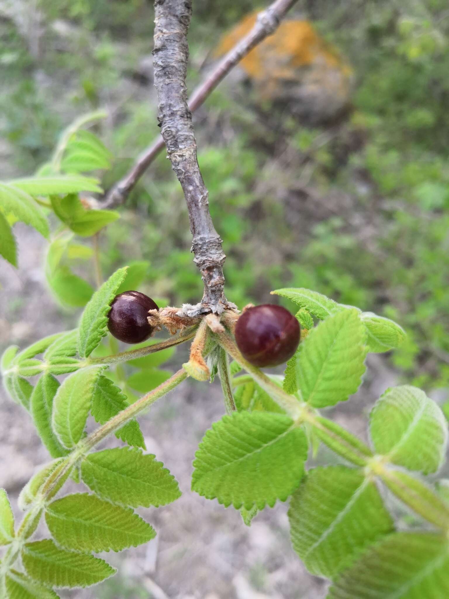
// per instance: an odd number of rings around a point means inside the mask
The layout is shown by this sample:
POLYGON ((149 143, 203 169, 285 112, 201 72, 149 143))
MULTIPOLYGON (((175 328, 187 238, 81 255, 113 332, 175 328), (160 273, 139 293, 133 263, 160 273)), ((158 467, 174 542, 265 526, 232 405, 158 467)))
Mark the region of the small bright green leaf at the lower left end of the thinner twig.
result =
POLYGON ((64 198, 51 196, 51 205, 56 216, 69 229, 84 237, 94 235, 120 216, 114 210, 89 210, 85 208, 75 193, 70 193, 64 198))

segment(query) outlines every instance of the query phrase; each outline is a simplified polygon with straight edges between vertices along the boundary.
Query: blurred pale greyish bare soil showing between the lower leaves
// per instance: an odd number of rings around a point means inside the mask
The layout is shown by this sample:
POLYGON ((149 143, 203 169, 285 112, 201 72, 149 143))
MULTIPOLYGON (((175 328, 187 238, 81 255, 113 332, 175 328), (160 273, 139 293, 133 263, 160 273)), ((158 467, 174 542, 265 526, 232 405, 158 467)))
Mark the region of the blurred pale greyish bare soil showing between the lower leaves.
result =
MULTIPOLYGON (((16 226, 20 270, 0 262, 0 349, 26 344, 75 325, 78 314, 61 310, 45 288, 44 241, 31 229, 16 226)), ((180 350, 181 352, 183 349, 180 350)), ((178 352, 176 364, 184 361, 178 352)), ((335 414, 357 434, 365 434, 360 414, 374 397, 396 382, 395 373, 375 357, 362 392, 335 414), (374 374, 376 382, 374 383, 374 374)), ((190 491, 192 459, 202 435, 224 412, 216 385, 186 382, 141 418, 147 449, 180 482, 183 495, 158 510, 142 510, 157 530, 146 546, 105 555, 119 574, 104 585, 61 591, 72 599, 320 599, 327 583, 310 576, 292 550, 287 504, 266 509, 245 527, 239 513, 223 509, 190 491)), ((23 409, 1 391, 0 485, 17 509, 17 496, 48 455, 23 409)), ((335 461, 329 453, 319 462, 335 461)), ((71 483, 74 489, 77 486, 71 483)), ((45 534, 45 529, 41 531, 45 534)))

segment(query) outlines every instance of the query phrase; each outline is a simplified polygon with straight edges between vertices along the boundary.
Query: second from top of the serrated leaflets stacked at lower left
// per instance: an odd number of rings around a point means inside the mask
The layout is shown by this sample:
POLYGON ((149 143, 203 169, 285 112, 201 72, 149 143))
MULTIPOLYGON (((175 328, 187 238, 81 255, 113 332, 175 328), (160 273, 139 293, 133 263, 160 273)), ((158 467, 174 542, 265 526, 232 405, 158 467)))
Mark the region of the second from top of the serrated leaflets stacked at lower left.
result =
POLYGON ((114 506, 95 495, 67 495, 46 507, 51 536, 77 551, 121 551, 154 539, 154 529, 129 507, 114 506))

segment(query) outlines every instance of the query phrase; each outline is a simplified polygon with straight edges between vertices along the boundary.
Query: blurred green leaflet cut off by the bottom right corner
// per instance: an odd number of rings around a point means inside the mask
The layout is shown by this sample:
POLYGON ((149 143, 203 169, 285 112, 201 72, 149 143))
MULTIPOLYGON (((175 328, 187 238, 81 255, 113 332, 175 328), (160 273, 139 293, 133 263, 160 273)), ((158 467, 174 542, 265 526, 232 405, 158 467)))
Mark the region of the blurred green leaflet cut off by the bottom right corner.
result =
POLYGON ((330 588, 328 599, 447 599, 449 541, 396 533, 369 549, 330 588))

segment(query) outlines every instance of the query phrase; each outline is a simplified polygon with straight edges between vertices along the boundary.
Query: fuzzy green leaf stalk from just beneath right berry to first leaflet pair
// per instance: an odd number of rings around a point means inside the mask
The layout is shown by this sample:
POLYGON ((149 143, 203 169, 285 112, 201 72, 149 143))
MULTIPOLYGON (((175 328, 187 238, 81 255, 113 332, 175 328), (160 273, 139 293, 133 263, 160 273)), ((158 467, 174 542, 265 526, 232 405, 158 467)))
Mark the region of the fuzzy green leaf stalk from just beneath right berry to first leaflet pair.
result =
POLYGON ((275 385, 266 374, 264 374, 259 368, 253 366, 245 360, 245 358, 239 352, 238 347, 233 341, 232 337, 226 332, 217 333, 217 340, 219 344, 226 350, 229 355, 235 359, 238 364, 244 368, 247 373, 250 373, 253 379, 258 383, 264 391, 266 391, 275 402, 287 412, 287 414, 293 419, 298 420, 302 416, 301 403, 293 397, 287 394, 283 389, 275 385))

